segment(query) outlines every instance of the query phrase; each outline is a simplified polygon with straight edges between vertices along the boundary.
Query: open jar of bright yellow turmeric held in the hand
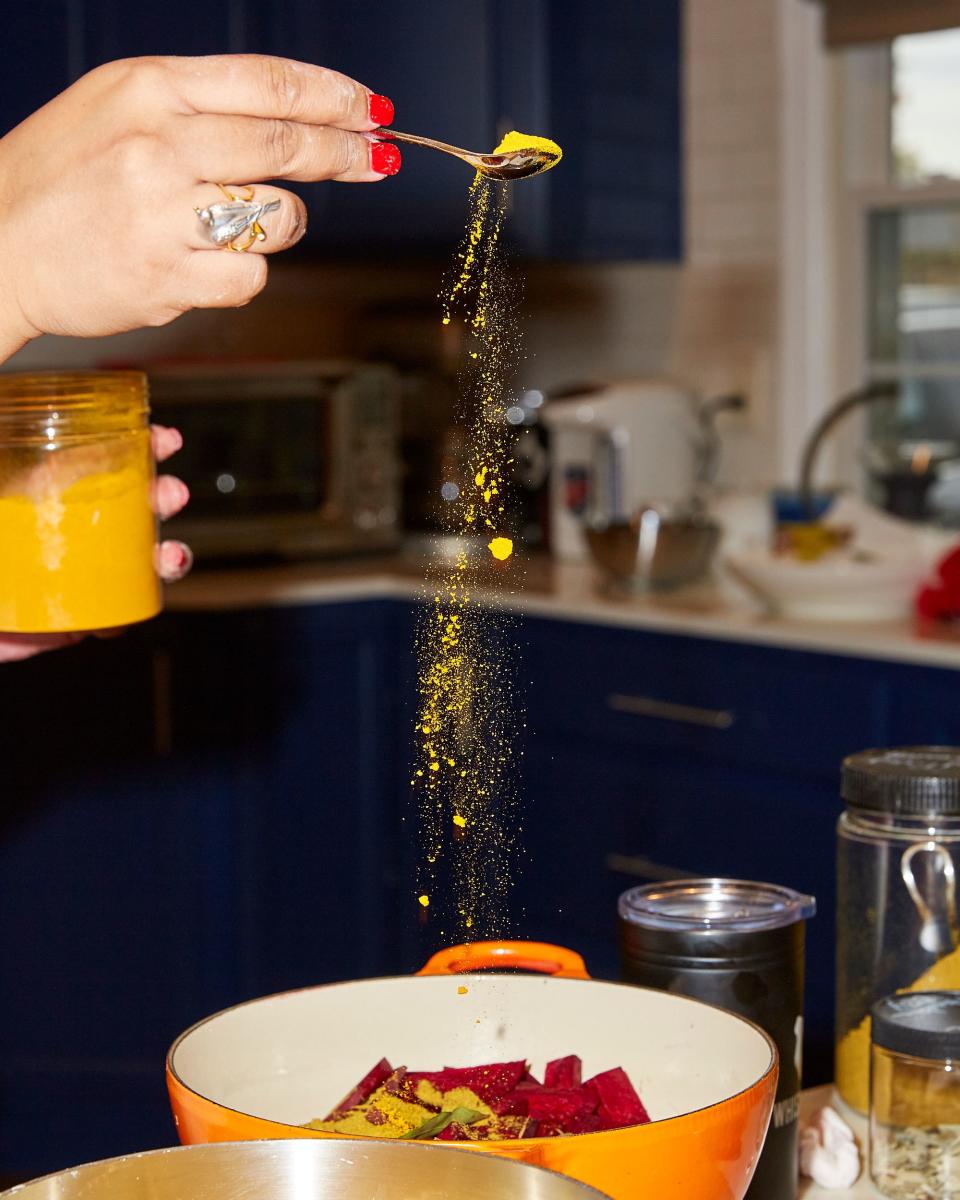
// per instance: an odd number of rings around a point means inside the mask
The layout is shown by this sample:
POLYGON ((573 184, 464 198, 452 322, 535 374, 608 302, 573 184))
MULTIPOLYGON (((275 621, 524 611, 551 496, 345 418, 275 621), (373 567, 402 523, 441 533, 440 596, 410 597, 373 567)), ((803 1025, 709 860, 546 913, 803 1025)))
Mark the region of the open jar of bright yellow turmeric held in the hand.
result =
POLYGON ((0 630, 155 616, 152 482, 145 376, 0 374, 0 630))

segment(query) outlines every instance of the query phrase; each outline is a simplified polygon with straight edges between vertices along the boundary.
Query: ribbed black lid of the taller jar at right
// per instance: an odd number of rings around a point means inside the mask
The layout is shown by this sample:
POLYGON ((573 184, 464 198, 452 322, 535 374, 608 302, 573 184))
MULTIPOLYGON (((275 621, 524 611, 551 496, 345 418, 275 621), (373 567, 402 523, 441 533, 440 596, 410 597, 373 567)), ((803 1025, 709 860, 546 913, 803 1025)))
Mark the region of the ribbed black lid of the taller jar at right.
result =
POLYGON ((844 760, 840 794, 876 812, 960 816, 960 746, 863 750, 844 760))

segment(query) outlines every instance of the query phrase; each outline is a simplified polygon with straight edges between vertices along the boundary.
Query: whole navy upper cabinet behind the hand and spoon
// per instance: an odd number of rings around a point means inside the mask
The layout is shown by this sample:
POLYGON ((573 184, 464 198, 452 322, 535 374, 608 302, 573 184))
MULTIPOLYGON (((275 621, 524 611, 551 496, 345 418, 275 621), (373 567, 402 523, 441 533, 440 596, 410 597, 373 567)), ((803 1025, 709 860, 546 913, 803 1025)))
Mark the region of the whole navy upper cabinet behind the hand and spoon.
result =
MULTIPOLYGON (((559 142, 559 168, 510 185, 506 236, 523 257, 671 262, 683 224, 680 7, 34 0, 5 25, 0 98, 8 127, 115 58, 247 50, 322 62, 390 96, 400 130, 470 150, 510 128, 559 142)), ((311 226, 298 253, 450 254, 466 224, 469 169, 415 146, 403 154, 401 173, 379 185, 300 185, 311 226)))

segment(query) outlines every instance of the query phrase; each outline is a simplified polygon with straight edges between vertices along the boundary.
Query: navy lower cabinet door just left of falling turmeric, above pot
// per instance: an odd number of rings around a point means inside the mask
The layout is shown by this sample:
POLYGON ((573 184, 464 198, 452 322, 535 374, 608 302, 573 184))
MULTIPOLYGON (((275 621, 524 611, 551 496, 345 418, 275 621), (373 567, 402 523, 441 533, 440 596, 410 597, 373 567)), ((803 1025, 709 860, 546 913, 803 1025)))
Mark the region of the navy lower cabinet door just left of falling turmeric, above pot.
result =
POLYGON ((233 739, 241 990, 389 974, 400 826, 392 608, 259 611, 218 628, 242 647, 233 739))

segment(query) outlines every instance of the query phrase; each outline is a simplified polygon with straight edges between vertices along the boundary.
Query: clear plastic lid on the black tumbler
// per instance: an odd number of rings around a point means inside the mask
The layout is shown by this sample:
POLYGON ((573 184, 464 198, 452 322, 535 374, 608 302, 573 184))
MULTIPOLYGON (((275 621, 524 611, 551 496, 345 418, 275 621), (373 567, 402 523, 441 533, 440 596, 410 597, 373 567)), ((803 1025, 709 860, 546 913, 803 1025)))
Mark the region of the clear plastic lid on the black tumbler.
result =
POLYGON ((662 930, 757 932, 806 920, 814 896, 748 880, 671 880, 630 888, 619 900, 622 919, 662 930))

